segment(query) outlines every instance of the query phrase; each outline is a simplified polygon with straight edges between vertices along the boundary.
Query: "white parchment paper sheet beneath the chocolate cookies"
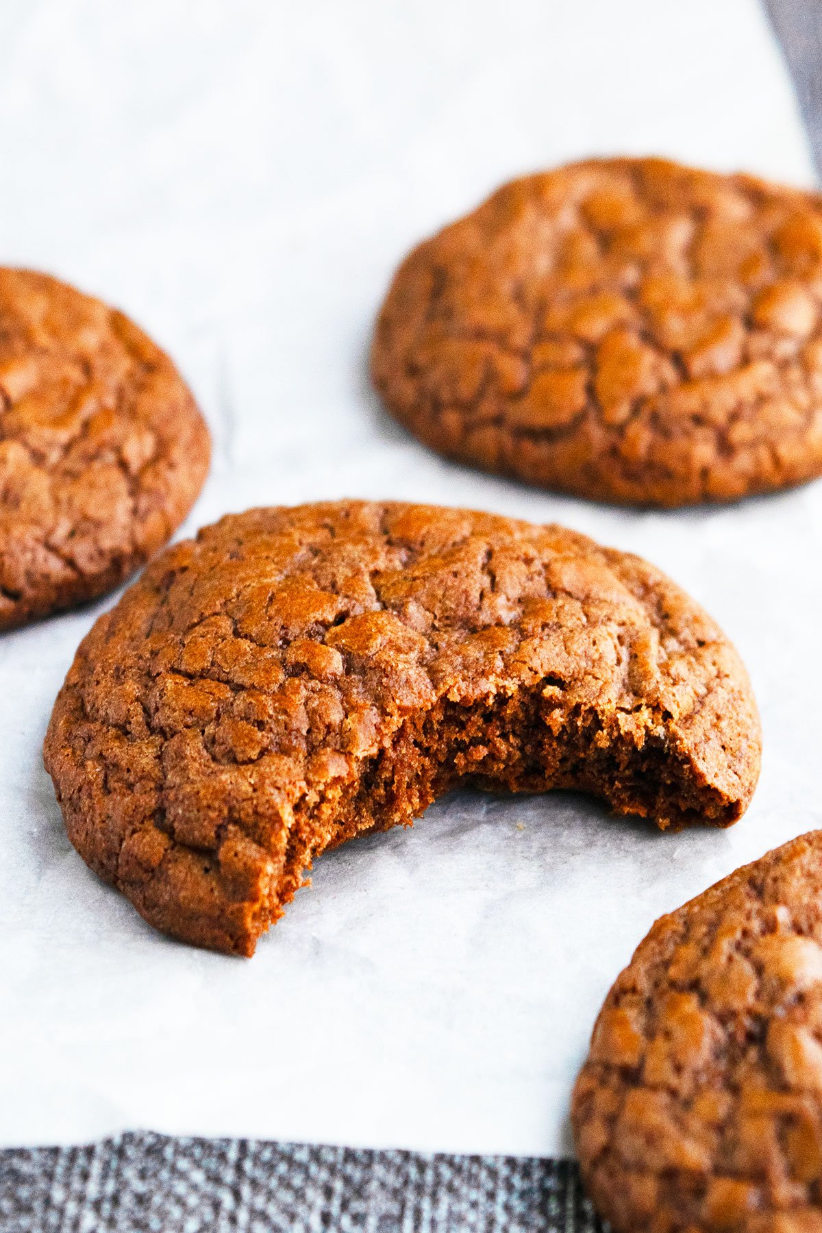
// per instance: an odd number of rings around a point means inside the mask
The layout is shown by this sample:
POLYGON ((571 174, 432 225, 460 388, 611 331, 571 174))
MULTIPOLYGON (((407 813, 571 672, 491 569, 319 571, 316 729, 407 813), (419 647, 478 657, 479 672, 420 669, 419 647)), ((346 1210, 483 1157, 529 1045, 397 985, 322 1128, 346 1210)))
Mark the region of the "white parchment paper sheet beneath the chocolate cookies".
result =
POLYGON ((755 800, 664 836, 582 798, 455 794, 351 845, 251 962, 154 933, 69 846, 41 743, 94 610, 0 639, 0 1142, 122 1128, 562 1153, 611 980, 653 919, 822 824, 822 483, 625 513, 450 466, 365 355, 405 249, 498 182, 658 152, 811 182, 753 0, 5 0, 0 259, 120 305, 216 455, 187 530, 403 497, 556 519, 670 572, 764 720, 755 800))

